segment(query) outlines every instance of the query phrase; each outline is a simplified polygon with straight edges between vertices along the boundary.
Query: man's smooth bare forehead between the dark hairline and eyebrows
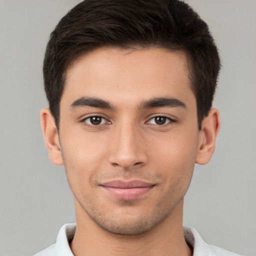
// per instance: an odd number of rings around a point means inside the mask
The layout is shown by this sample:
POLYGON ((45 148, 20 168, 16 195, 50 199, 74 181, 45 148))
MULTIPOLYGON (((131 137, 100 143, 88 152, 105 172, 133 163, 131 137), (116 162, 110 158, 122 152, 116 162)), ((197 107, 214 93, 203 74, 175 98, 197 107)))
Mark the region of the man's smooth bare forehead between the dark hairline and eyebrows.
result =
POLYGON ((188 73, 182 51, 99 48, 79 57, 67 70, 61 102, 81 96, 122 104, 158 96, 184 100, 192 93, 188 73))

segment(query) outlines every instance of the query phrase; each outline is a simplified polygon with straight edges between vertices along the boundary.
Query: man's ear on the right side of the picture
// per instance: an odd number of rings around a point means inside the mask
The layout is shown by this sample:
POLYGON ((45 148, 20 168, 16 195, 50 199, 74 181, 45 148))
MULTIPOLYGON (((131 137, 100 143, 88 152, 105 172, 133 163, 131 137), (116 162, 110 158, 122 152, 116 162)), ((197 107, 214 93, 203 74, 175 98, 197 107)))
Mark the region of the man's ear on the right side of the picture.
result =
POLYGON ((216 108, 211 108, 208 115, 202 121, 199 131, 199 143, 195 162, 206 164, 215 149, 215 141, 220 128, 219 112, 216 108))

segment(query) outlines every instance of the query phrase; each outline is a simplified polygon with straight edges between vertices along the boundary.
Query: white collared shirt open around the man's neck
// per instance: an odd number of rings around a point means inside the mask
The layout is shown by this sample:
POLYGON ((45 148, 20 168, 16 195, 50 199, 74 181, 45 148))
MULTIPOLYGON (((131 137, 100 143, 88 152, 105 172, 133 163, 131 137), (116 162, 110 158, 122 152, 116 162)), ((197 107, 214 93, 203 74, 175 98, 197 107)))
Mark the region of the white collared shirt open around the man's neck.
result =
MULTIPOLYGON (((75 227, 75 223, 64 224, 58 232, 56 243, 33 256, 74 256, 69 247, 69 242, 74 236, 75 227)), ((208 245, 198 232, 190 226, 183 225, 183 232, 187 244, 193 248, 193 256, 241 256, 217 246, 208 245)))

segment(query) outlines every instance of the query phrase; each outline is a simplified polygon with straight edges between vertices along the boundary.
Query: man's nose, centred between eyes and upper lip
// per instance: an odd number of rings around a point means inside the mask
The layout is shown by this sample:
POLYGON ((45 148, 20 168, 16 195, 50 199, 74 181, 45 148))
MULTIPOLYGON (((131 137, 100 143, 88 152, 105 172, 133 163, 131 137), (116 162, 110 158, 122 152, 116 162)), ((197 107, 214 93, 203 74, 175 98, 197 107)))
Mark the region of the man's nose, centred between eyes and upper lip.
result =
POLYGON ((147 162, 144 136, 136 125, 116 127, 112 132, 110 144, 109 162, 112 165, 127 170, 147 162))

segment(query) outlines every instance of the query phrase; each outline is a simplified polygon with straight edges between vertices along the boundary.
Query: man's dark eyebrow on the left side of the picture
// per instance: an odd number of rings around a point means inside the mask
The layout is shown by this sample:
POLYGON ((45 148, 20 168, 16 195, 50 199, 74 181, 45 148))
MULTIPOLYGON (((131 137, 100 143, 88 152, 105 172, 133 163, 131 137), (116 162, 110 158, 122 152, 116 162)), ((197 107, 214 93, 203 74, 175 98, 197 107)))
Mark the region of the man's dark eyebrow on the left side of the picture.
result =
POLYGON ((106 108, 106 109, 112 109, 112 110, 114 109, 114 107, 106 100, 95 98, 95 97, 80 97, 70 105, 72 109, 80 106, 92 106, 92 107, 106 108))

